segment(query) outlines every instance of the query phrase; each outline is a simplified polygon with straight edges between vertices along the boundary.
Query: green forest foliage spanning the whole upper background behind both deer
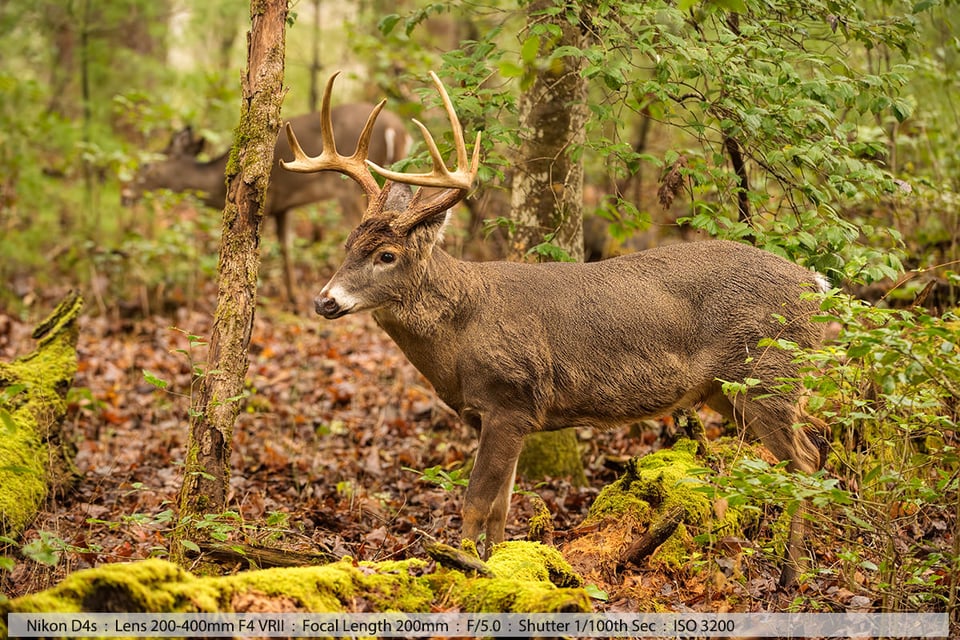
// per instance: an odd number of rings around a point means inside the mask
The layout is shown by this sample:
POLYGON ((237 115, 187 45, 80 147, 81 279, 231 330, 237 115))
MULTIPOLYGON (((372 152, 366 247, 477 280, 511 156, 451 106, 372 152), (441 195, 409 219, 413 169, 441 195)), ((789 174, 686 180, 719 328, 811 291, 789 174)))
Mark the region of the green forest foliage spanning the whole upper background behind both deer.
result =
MULTIPOLYGON (((80 283, 104 277, 105 297, 129 299, 135 287, 152 306, 167 292, 189 298, 212 273, 214 218, 157 225, 148 207, 144 229, 139 212, 117 203, 116 180, 129 179, 170 131, 190 123, 222 148, 235 124, 247 8, 227 0, 189 8, 176 31, 159 5, 137 0, 0 11, 0 250, 9 257, 0 280, 55 282, 53 255, 54 268, 80 283), (78 58, 58 67, 52 46, 58 29, 75 37, 84 26, 86 93, 78 58), (168 51, 193 66, 167 64, 168 51), (191 242, 198 234, 204 240, 191 242)), ((661 194, 684 209, 684 224, 751 241, 836 282, 891 277, 904 248, 949 245, 960 224, 956 3, 591 1, 549 4, 530 19, 527 11, 507 0, 416 1, 386 14, 363 4, 345 26, 321 24, 321 63, 359 59, 364 94, 386 92, 402 115, 430 119, 438 102, 423 79, 438 69, 466 130, 483 132, 479 183, 499 188, 517 144, 518 92, 538 71, 581 59, 592 117, 586 146, 573 153, 599 189, 596 213, 621 242, 661 217, 652 197, 620 191, 641 174, 662 176, 661 194), (553 46, 559 27, 542 18, 554 15, 581 23, 590 44, 553 46), (658 140, 649 148, 636 139, 644 122, 658 140), (746 163, 745 193, 731 141, 746 163), (749 216, 739 212, 744 202, 749 216)), ((311 38, 304 20, 290 30, 287 113, 304 109, 311 38)), ((446 152, 441 120, 434 130, 446 152)), ((425 162, 420 145, 411 164, 425 162)), ((11 293, 4 289, 6 302, 11 293)))

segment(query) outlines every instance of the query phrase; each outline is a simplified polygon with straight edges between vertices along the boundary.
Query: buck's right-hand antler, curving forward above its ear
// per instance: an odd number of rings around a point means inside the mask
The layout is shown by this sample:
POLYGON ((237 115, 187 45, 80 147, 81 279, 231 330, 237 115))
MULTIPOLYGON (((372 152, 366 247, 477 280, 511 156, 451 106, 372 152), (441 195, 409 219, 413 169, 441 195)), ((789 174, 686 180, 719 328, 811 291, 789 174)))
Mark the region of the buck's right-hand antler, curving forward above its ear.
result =
MULTIPOLYGON (((477 177, 477 169, 480 166, 480 133, 477 132, 477 140, 473 146, 473 159, 468 163, 467 145, 463 139, 463 127, 460 125, 460 119, 457 117, 457 112, 453 108, 450 96, 447 94, 447 90, 444 88, 443 83, 440 82, 437 74, 431 71, 430 77, 433 79, 433 84, 436 85, 437 91, 440 93, 443 106, 447 111, 447 117, 450 119, 450 126, 453 129, 453 141, 457 149, 456 170, 450 171, 447 169, 446 163, 443 161, 443 158, 440 156, 440 151, 437 149, 437 143, 419 120, 414 120, 414 123, 416 123, 417 127, 419 127, 423 133, 423 140, 427 145, 427 150, 430 152, 430 158, 433 161, 433 170, 430 173, 399 173, 397 171, 384 169, 369 160, 367 160, 367 165, 384 178, 392 180, 393 182, 401 182, 421 187, 439 187, 443 189, 469 191, 474 179, 477 177)), ((463 196, 460 195, 456 199, 462 197, 463 196)), ((453 202, 456 202, 456 199, 454 199, 453 202)), ((452 205, 453 202, 450 204, 452 205)))

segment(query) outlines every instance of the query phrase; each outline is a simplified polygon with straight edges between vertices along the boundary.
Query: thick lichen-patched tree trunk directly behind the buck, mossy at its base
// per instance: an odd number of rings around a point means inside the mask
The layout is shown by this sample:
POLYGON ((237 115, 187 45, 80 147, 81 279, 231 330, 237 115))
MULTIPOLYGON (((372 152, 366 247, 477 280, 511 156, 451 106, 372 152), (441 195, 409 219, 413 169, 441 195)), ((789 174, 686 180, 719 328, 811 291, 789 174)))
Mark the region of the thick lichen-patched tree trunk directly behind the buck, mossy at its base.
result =
MULTIPOLYGON (((559 47, 582 49, 586 31, 567 19, 566 13, 546 16, 553 0, 533 0, 528 24, 548 22, 561 34, 542 40, 536 67, 530 70, 529 87, 520 96, 520 149, 513 174, 511 206, 514 228, 510 258, 518 261, 554 259, 556 252, 537 247, 548 242, 575 261, 583 261, 583 163, 580 149, 586 140, 586 81, 577 56, 555 58, 559 47), (542 64, 538 64, 542 63, 542 64)), ((534 434, 524 443, 520 475, 570 477, 584 483, 583 462, 576 435, 566 429, 534 434)))

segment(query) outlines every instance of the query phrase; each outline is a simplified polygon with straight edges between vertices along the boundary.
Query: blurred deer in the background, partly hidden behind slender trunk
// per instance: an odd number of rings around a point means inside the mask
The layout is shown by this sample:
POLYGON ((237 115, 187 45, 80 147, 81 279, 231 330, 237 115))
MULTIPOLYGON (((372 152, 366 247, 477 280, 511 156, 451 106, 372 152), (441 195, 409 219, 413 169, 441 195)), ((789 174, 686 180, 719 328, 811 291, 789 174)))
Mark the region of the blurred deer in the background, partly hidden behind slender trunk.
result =
MULTIPOLYGON (((373 105, 360 102, 340 105, 333 109, 330 117, 334 131, 341 139, 357 140, 372 108, 373 105)), ((320 124, 316 114, 297 116, 291 122, 304 132, 308 147, 320 150, 320 124)), ((370 158, 389 166, 406 156, 409 140, 400 116, 384 111, 370 137, 370 158)), ((197 191, 208 207, 223 209, 227 196, 224 173, 228 154, 224 153, 209 162, 201 162, 197 156, 203 146, 203 138, 195 137, 189 128, 175 133, 164 151, 165 158, 160 162, 145 165, 133 182, 124 187, 124 203, 135 202, 147 191, 170 189, 177 192, 197 191)), ((290 255, 290 210, 313 202, 337 200, 343 219, 353 226, 360 220, 363 204, 356 185, 340 176, 306 176, 281 170, 279 159, 289 156, 290 153, 286 136, 278 136, 273 152, 274 169, 270 173, 265 213, 276 220, 283 259, 284 287, 287 299, 295 303, 296 284, 290 255)))

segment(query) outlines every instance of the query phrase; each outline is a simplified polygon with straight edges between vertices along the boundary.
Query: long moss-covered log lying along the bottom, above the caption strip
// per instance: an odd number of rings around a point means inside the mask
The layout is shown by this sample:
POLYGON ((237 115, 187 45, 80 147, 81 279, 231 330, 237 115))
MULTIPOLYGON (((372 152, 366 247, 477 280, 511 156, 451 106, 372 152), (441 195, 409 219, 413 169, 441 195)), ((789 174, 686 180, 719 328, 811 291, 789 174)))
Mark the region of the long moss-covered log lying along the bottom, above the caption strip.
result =
POLYGON ((589 612, 560 553, 535 542, 497 545, 492 577, 468 575, 420 558, 338 562, 195 576, 165 560, 77 571, 56 587, 0 601, 0 636, 8 613, 32 612, 589 612))

